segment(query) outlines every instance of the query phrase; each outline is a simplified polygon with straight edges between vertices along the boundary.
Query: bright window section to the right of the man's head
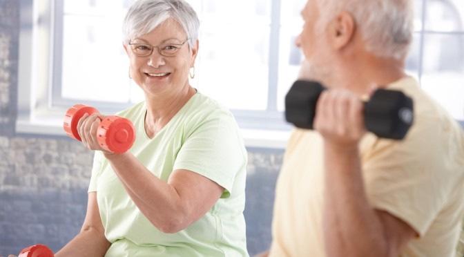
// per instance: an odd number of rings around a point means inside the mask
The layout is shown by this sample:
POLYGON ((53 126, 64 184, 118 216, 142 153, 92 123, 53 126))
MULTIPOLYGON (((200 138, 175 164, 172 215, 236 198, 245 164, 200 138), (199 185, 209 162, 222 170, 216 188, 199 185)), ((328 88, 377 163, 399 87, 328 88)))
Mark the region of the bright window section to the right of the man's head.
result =
POLYGON ((464 121, 464 4, 462 0, 421 2, 415 52, 421 86, 464 121))

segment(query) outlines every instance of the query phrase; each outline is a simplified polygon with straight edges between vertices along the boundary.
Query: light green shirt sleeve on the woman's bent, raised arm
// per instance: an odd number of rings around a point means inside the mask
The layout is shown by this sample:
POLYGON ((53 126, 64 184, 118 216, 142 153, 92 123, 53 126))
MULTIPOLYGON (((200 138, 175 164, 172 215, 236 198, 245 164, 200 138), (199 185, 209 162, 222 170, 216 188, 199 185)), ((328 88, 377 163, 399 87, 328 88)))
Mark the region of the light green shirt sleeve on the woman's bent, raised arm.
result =
POLYGON ((193 171, 224 187, 221 198, 232 192, 235 176, 245 169, 247 155, 232 115, 206 119, 186 138, 177 154, 174 170, 193 171))

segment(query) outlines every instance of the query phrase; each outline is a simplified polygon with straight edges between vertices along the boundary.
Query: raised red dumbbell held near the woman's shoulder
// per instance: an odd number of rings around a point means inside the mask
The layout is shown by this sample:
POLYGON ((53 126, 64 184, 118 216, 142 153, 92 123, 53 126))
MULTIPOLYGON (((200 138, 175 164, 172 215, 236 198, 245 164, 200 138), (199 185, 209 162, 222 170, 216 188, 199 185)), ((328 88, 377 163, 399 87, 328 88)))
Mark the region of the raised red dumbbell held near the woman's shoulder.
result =
MULTIPOLYGON (((83 104, 76 104, 68 109, 64 116, 64 131, 76 140, 81 141, 77 133, 77 122, 88 113, 98 113, 97 109, 83 104)), ((130 120, 118 116, 107 116, 101 120, 97 129, 97 140, 106 151, 124 153, 135 141, 135 129, 130 120)))

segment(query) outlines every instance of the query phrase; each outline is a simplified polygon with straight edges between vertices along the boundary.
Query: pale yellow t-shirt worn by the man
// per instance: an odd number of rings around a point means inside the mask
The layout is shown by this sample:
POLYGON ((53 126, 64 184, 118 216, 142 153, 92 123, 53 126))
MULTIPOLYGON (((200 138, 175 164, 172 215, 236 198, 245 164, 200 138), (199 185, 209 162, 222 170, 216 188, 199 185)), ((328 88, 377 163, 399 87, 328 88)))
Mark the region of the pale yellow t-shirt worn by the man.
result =
MULTIPOLYGON (((363 137, 360 158, 367 198, 418 232, 400 256, 454 256, 464 215, 463 130, 413 78, 389 88, 414 99, 415 122, 403 141, 371 133, 363 137)), ((322 137, 296 129, 278 178, 271 257, 326 256, 323 192, 322 137)))

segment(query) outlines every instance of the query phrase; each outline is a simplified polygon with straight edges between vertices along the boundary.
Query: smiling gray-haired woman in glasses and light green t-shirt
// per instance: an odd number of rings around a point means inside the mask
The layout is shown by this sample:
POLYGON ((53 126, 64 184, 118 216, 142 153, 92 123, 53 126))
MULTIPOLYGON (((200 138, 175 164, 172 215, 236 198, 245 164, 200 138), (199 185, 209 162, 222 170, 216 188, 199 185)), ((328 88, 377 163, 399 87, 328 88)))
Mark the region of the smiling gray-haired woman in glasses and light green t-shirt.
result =
POLYGON ((96 150, 81 232, 56 256, 248 256, 247 153, 231 113, 189 84, 199 21, 183 0, 144 0, 124 21, 130 75, 145 101, 119 113, 135 126, 130 151, 79 135, 96 150))

